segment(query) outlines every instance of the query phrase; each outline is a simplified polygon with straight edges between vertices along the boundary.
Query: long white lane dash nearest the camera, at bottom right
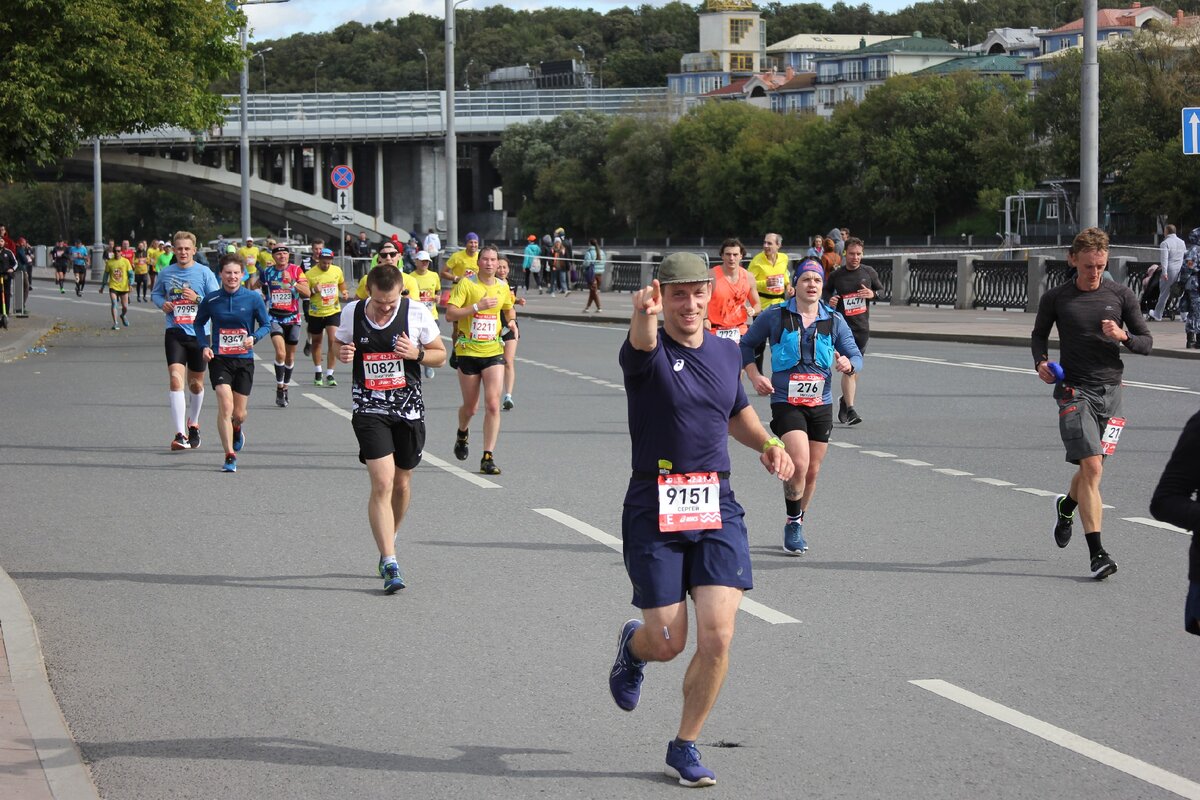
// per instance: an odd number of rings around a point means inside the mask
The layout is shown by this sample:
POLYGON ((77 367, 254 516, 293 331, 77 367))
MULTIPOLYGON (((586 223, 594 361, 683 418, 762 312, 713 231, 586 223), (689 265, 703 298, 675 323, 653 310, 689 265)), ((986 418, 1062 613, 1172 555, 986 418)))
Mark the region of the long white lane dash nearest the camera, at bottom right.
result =
POLYGON ((1031 733, 1039 739, 1045 739, 1054 745, 1058 745, 1060 747, 1064 747, 1074 753, 1079 753, 1085 758, 1091 758, 1092 760, 1099 762, 1105 766, 1111 766, 1112 769, 1120 770, 1126 775, 1132 775, 1140 781, 1157 786, 1160 789, 1166 789, 1168 792, 1177 794, 1181 798, 1200 800, 1200 783, 1189 781, 1181 775, 1168 772, 1159 766, 1147 764, 1146 762, 1134 758, 1133 756, 1126 756, 1124 753, 1112 750, 1111 747, 1105 747, 1104 745, 1092 741, 1091 739, 1085 739, 1069 730, 1052 726, 1049 722, 1043 722, 1037 717, 1021 714, 1015 709, 1001 705, 995 700, 989 700, 986 697, 980 697, 974 692, 968 692, 967 690, 944 680, 911 680, 908 682, 913 686, 924 688, 926 692, 932 692, 934 694, 944 697, 953 703, 966 706, 972 711, 978 711, 979 714, 989 716, 992 720, 1010 724, 1014 728, 1031 733))

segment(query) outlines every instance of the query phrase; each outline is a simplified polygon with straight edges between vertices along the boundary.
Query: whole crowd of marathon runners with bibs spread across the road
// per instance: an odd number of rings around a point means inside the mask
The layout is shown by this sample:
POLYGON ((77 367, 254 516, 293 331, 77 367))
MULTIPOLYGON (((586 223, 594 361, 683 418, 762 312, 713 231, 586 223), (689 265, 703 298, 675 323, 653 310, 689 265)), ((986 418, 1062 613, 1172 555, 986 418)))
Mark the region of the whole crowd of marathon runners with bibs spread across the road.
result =
MULTIPOLYGON (((384 242, 353 300, 323 245, 314 245, 311 264, 293 264, 292 252, 276 246, 271 263, 254 273, 238 252, 222 254, 214 272, 194 260, 196 237, 181 231, 164 246, 170 258, 156 264, 156 281, 140 281, 149 272, 139 271, 138 260, 161 255, 136 249, 132 260, 114 257, 101 290, 113 296, 114 327, 127 324, 131 276, 137 300, 154 302, 164 314, 173 450, 200 446, 209 374, 226 471, 236 471, 247 441, 254 351, 263 338, 271 338, 281 408, 289 404, 301 338, 316 386, 336 386, 335 362, 349 365, 352 428, 370 477, 377 571, 384 591, 394 594, 404 587, 396 540, 425 447, 422 383, 445 365, 456 371, 462 402, 452 452, 458 461, 470 457, 472 423, 482 401, 479 471, 499 475, 500 416, 515 408, 517 308, 524 300, 509 284, 508 260, 475 234, 440 270, 421 251, 415 269, 404 272, 401 248, 384 242), (450 348, 442 341, 439 306, 450 348)), ((620 709, 637 706, 646 664, 671 661, 685 648, 690 596, 697 644, 684 679, 680 724, 666 753, 667 772, 684 786, 715 783, 695 742, 725 680, 738 604, 752 588, 744 512, 730 483, 728 439, 758 452, 781 483, 782 549, 799 557, 809 551, 805 522, 835 421, 863 423, 856 405, 859 373, 871 300, 883 287, 862 263, 860 240, 847 235, 839 245, 836 265, 812 254, 792 259, 770 233, 744 267, 746 248, 728 239, 719 265, 673 253, 656 278, 632 294, 618 356, 632 446, 622 536, 632 603, 642 616, 620 628, 610 690, 620 709), (748 390, 769 397, 768 426, 748 390)), ((1075 237, 1068 253, 1073 277, 1043 295, 1031 335, 1033 367, 1054 386, 1066 461, 1074 467, 1067 491, 1055 499, 1048 534, 1067 547, 1078 515, 1088 575, 1096 579, 1117 571, 1100 541, 1100 480, 1124 425, 1121 350, 1145 355, 1153 344, 1133 293, 1103 279, 1108 254, 1102 230, 1075 237), (1054 327, 1061 342, 1057 361, 1048 347, 1054 327)), ((61 290, 61 273, 58 279, 61 290)), ((1196 585, 1188 613, 1200 619, 1196 585)))

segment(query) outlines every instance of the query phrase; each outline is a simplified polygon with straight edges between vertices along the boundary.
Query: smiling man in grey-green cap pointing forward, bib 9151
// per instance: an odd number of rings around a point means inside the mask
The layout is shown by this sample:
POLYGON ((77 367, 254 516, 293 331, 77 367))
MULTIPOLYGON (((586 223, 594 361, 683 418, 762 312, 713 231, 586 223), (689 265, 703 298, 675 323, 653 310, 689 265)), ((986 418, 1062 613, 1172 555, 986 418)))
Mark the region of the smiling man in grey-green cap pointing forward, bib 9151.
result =
POLYGON ((772 475, 792 475, 782 443, 763 429, 742 389, 737 345, 704 333, 712 281, 698 255, 667 255, 658 279, 634 294, 620 348, 634 468, 622 542, 642 620, 620 630, 608 690, 620 709, 637 706, 646 662, 671 661, 686 645, 690 594, 696 652, 665 769, 688 787, 716 783, 701 764, 696 739, 728 670, 742 595, 754 584, 744 511, 730 487, 727 438, 761 451, 772 475))

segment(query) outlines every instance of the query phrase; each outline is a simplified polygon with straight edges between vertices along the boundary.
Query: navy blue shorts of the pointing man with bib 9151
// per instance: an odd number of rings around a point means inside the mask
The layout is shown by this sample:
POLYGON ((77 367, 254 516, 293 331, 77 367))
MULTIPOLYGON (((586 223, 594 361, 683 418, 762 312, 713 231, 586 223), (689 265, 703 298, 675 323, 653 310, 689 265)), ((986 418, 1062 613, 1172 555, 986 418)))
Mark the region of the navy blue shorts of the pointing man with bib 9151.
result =
POLYGON ((634 604, 661 608, 683 602, 692 587, 752 589, 745 511, 721 479, 721 523, 714 530, 659 530, 658 483, 632 479, 620 517, 625 572, 634 604))

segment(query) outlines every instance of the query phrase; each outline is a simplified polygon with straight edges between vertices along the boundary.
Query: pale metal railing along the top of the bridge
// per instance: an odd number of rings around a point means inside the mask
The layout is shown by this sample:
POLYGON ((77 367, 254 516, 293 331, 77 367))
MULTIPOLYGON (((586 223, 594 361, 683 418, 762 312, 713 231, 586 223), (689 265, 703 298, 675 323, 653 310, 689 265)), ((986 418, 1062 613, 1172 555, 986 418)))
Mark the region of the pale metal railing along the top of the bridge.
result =
MULTIPOLYGON (((227 95, 222 125, 206 132, 156 128, 124 133, 114 144, 235 143, 241 136, 238 96, 227 95)), ((312 142, 316 139, 428 138, 445 132, 445 92, 374 91, 342 94, 251 95, 246 103, 251 139, 312 142)), ((558 89, 460 91, 455 121, 463 133, 498 133, 509 125, 548 119, 564 112, 601 114, 667 113, 666 89, 558 89)))

